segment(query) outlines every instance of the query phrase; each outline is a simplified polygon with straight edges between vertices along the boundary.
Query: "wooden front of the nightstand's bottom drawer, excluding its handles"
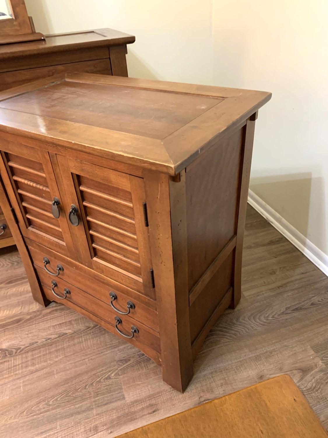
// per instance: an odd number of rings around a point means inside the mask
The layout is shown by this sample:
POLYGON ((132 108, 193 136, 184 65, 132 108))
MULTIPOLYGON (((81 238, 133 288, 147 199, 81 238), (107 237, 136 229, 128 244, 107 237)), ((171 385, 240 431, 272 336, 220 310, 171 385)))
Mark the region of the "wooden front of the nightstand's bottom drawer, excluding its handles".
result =
MULTIPOLYGON (((151 350, 155 350, 158 353, 160 352, 159 333, 155 330, 147 327, 147 325, 144 325, 140 321, 130 318, 129 315, 116 314, 112 307, 110 307, 108 304, 105 304, 103 301, 98 300, 89 293, 78 289, 76 286, 67 283, 59 277, 56 277, 55 279, 51 278, 42 268, 37 267, 36 270, 43 286, 43 291, 49 300, 57 301, 66 305, 67 303, 72 302, 78 307, 81 307, 95 315, 97 318, 100 318, 102 321, 112 325, 112 327, 115 327, 115 316, 119 316, 122 321, 122 323, 119 324, 119 329, 123 333, 129 336, 131 335, 131 327, 137 327, 139 332, 134 335, 135 340, 149 347, 151 350), (54 287, 54 290, 58 295, 64 296, 65 288, 66 290, 70 291, 70 294, 66 295, 66 299, 57 298, 52 293, 52 281, 55 281, 57 284, 57 286, 54 287)), ((116 333, 122 339, 126 339, 124 336, 119 334, 119 332, 116 331, 116 333)))

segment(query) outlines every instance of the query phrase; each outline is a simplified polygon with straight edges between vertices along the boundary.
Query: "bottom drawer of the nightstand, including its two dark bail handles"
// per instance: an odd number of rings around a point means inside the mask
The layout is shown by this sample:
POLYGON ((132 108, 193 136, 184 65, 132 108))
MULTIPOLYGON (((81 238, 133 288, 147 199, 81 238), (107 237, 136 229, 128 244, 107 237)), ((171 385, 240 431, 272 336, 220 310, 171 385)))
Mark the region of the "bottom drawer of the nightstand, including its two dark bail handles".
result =
MULTIPOLYGON (((36 271, 42 284, 42 290, 50 301, 65 304, 79 311, 79 313, 83 313, 80 311, 80 309, 83 309, 87 312, 84 313, 85 316, 90 317, 90 315, 93 315, 97 318, 96 322, 98 323, 103 321, 106 325, 105 328, 108 329, 108 326, 110 326, 112 328, 111 332, 134 344, 140 350, 150 349, 158 354, 160 353, 159 333, 155 330, 147 327, 147 325, 140 321, 130 318, 129 315, 115 314, 115 311, 108 304, 67 283, 63 279, 58 277, 55 279, 49 278, 49 275, 42 268, 36 267, 36 271)), ((94 320, 94 318, 91 319, 94 320)), ((144 352, 150 355, 147 351, 144 352)))

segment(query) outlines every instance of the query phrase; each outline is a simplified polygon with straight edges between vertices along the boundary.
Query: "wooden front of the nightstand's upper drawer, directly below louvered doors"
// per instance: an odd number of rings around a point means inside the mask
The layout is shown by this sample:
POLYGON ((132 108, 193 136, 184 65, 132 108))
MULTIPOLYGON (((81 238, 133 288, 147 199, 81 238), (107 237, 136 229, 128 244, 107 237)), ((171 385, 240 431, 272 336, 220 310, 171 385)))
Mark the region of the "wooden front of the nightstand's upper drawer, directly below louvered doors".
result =
MULTIPOLYGON (((110 283, 108 282, 108 279, 105 279, 105 277, 100 275, 97 276, 97 273, 93 272, 91 269, 88 269, 73 261, 69 261, 63 256, 59 256, 59 254, 50 252, 46 248, 40 248, 40 251, 29 246, 28 249, 36 269, 39 272, 41 270, 42 274, 44 273, 45 279, 48 278, 47 284, 50 284, 52 279, 62 279, 67 283, 78 287, 79 289, 87 290, 90 295, 98 298, 98 300, 103 301, 107 305, 109 305, 111 302, 111 297, 109 294, 113 292, 115 293, 117 299, 115 299, 112 304, 116 308, 123 312, 127 311, 127 303, 131 301, 135 307, 130 309, 129 316, 136 321, 141 321, 143 324, 158 331, 158 317, 156 311, 156 302, 154 300, 150 300, 140 293, 136 293, 135 291, 120 285, 119 283, 110 283), (56 274, 58 265, 63 267, 63 271, 59 271, 58 276, 52 276, 47 273, 45 271, 43 262, 44 257, 48 258, 50 262, 46 265, 46 268, 50 272, 56 274)), ((113 314, 115 313, 112 307, 110 307, 110 310, 112 310, 113 314)), ((115 314, 119 315, 118 312, 115 314)))

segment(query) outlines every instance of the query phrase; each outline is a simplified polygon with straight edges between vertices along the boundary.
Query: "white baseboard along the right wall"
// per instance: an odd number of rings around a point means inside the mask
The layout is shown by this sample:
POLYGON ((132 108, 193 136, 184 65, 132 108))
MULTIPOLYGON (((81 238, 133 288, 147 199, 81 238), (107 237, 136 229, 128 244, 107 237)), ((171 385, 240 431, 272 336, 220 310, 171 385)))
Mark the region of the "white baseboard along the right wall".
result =
POLYGON ((297 247, 314 265, 328 276, 328 255, 316 247, 303 234, 283 219, 273 208, 262 201, 253 191, 248 191, 248 203, 255 208, 287 240, 297 247))

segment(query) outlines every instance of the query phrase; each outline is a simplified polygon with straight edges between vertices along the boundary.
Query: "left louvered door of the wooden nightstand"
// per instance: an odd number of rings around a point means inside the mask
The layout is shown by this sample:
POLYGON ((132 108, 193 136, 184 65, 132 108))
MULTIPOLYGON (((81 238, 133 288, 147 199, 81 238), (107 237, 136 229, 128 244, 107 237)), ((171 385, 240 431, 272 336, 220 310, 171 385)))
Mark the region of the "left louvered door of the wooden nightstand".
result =
POLYGON ((0 148, 1 174, 23 236, 74 258, 65 205, 48 152, 5 140, 0 148), (57 219, 52 214, 54 199, 59 202, 57 219))

